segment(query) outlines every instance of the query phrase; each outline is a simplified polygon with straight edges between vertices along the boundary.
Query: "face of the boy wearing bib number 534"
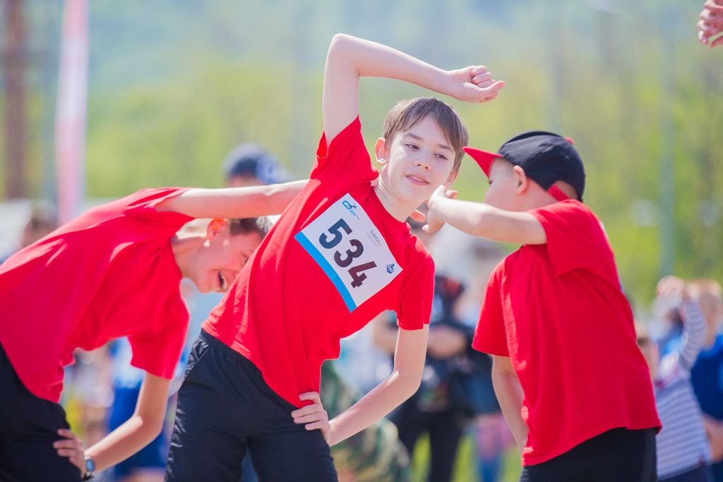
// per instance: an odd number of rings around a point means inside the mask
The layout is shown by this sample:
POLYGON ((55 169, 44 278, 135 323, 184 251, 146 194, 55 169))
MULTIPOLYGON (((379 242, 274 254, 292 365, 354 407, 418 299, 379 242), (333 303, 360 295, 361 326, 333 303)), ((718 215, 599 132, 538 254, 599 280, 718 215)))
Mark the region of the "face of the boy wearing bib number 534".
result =
POLYGON ((384 166, 380 182, 398 202, 419 205, 442 184, 451 187, 455 152, 437 122, 427 116, 392 142, 377 143, 377 162, 384 166))

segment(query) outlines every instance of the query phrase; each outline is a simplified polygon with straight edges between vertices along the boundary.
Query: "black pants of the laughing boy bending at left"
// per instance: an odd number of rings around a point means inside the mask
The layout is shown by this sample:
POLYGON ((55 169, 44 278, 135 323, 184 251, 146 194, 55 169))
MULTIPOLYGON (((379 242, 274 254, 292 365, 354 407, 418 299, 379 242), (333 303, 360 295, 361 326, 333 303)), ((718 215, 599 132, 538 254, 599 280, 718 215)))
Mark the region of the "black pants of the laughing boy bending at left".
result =
POLYGON ((80 481, 80 470, 53 447, 58 429, 69 429, 65 410, 30 393, 0 346, 0 481, 80 481))

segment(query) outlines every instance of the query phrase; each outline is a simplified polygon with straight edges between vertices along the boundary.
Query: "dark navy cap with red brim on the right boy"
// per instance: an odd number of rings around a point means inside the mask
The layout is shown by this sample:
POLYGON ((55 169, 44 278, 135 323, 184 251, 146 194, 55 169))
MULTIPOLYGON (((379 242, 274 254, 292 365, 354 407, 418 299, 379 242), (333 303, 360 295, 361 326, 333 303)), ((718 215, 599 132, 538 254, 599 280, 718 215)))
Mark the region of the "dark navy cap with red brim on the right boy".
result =
POLYGON ((487 152, 474 147, 464 147, 489 177, 489 168, 496 158, 504 158, 519 165, 525 175, 549 191, 555 199, 568 197, 555 186, 555 181, 565 181, 573 186, 582 200, 585 191, 585 168, 573 141, 552 132, 523 132, 508 140, 497 152, 487 152))

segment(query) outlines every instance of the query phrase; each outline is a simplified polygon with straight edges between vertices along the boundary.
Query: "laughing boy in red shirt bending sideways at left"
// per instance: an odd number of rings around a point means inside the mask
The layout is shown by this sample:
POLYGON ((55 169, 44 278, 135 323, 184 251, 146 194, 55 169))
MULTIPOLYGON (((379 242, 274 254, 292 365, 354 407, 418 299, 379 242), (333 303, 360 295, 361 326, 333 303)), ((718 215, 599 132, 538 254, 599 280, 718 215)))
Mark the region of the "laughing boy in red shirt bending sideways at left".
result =
POLYGON ((189 318, 181 277, 202 292, 227 291, 268 230, 249 217, 281 212, 305 182, 144 189, 1 264, 0 479, 91 478, 155 438, 189 318), (147 372, 136 411, 84 451, 59 405, 64 366, 75 348, 123 336, 132 364, 147 372))

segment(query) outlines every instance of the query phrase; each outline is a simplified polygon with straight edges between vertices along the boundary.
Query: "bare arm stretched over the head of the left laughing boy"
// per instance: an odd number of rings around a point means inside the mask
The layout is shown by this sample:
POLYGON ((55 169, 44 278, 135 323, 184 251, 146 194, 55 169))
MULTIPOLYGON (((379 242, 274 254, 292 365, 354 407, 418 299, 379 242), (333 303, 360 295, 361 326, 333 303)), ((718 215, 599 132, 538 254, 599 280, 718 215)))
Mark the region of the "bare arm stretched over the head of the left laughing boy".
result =
POLYGON ((307 184, 307 179, 269 186, 189 189, 163 200, 158 211, 180 212, 192 218, 255 218, 281 214, 307 184))

